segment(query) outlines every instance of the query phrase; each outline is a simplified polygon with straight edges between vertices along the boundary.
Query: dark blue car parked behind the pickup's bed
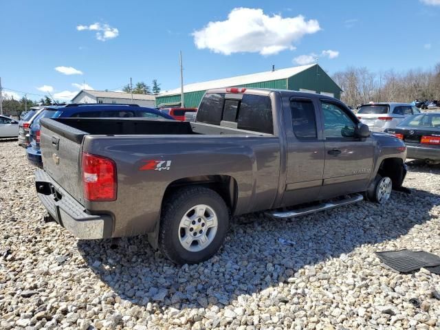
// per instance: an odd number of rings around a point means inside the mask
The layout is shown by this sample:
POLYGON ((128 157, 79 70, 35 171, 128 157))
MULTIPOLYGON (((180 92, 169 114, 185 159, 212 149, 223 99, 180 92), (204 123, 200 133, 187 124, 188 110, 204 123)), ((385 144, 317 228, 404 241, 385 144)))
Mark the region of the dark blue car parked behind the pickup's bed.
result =
POLYGON ((29 162, 43 167, 40 150, 41 118, 151 118, 173 117, 157 109, 139 107, 137 104, 67 104, 45 107, 30 126, 30 146, 26 149, 29 162))

